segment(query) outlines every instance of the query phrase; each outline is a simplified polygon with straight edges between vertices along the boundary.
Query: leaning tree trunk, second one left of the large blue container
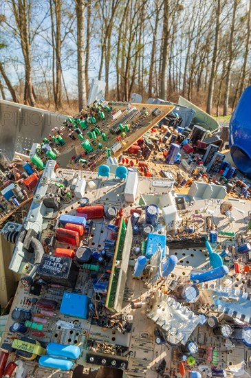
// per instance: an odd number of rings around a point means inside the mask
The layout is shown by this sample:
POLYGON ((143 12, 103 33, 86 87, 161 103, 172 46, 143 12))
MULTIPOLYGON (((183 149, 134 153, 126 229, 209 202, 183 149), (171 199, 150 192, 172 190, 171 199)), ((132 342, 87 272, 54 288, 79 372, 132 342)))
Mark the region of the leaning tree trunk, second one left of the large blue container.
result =
POLYGON ((212 97, 215 89, 215 67, 217 63, 218 47, 219 47, 219 16, 221 14, 221 0, 217 0, 217 11, 215 19, 215 45, 212 54, 212 67, 210 72, 209 87, 208 87, 208 100, 206 104, 206 111, 211 114, 212 111, 212 97))

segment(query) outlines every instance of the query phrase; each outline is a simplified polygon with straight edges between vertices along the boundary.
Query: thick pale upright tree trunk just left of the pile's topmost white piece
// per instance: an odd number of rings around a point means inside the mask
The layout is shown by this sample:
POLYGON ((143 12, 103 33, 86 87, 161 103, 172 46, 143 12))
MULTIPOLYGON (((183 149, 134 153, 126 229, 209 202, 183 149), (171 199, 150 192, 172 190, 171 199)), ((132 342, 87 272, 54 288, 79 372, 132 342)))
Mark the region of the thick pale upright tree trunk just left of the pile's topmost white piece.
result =
POLYGON ((78 109, 81 111, 86 105, 86 81, 85 81, 85 49, 84 49, 84 0, 76 0, 77 19, 77 47, 78 47, 78 109))

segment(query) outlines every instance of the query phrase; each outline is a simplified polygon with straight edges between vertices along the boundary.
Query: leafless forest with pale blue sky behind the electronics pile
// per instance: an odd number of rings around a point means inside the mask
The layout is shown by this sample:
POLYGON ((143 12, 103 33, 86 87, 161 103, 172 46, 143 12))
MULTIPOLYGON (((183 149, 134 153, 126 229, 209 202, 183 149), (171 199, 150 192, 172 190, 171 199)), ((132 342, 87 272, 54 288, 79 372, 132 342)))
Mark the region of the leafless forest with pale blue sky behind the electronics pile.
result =
POLYGON ((182 95, 227 115, 251 83, 250 14, 251 0, 2 0, 1 98, 69 113, 97 78, 109 100, 182 95))

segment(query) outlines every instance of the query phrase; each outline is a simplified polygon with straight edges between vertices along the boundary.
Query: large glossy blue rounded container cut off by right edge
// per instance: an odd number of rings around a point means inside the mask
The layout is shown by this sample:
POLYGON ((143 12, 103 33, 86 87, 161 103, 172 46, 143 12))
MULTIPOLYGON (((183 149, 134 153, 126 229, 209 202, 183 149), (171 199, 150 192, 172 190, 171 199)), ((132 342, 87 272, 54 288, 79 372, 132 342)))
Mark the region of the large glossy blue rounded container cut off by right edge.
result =
POLYGON ((243 91, 229 124, 230 153, 241 172, 251 177, 251 86, 243 91))

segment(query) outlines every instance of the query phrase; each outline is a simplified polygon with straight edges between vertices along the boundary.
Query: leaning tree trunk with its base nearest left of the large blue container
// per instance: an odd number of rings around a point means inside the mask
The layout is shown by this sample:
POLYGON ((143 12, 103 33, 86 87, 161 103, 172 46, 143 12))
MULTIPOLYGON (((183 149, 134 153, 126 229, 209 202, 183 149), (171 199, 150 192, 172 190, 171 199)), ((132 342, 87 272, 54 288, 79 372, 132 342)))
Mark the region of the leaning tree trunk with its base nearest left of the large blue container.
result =
POLYGON ((225 86, 225 95, 224 95, 224 104, 223 104, 223 115, 228 114, 228 102, 229 102, 229 91, 230 91, 230 78, 231 78, 231 67, 233 60, 233 50, 232 43, 234 39, 234 25, 235 25, 235 16, 237 12, 237 5, 239 0, 234 0, 233 10, 232 10, 232 25, 230 31, 230 41, 228 45, 228 65, 226 69, 226 86, 225 86))

